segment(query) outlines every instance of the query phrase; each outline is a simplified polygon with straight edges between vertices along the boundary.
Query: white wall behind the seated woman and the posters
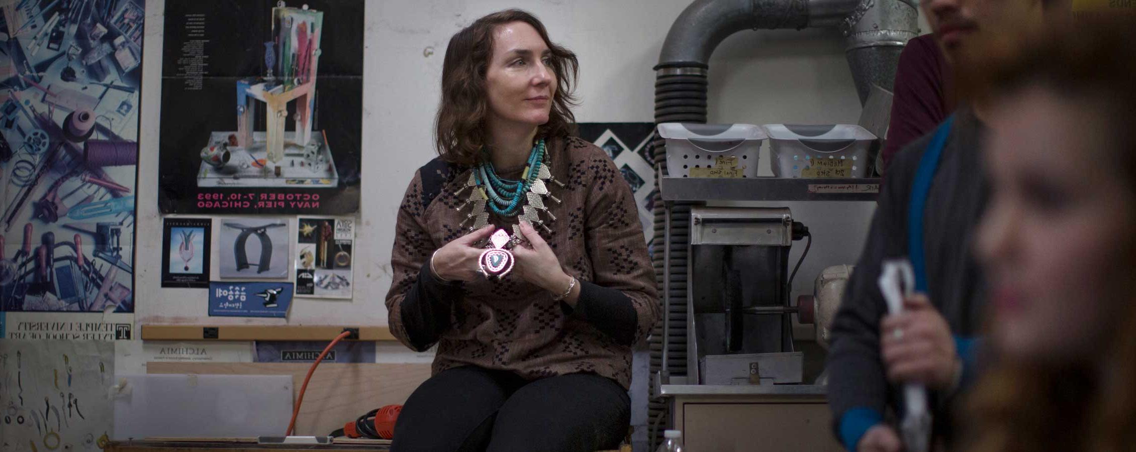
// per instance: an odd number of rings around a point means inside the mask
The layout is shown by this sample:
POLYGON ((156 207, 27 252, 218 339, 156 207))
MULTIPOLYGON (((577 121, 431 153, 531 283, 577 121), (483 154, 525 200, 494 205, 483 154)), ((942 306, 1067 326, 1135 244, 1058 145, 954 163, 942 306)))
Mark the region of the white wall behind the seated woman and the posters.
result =
MULTIPOLYGON (((290 5, 293 1, 289 1, 290 5)), ((523 7, 554 41, 580 60, 580 122, 651 122, 654 73, 662 40, 688 0, 383 0, 367 1, 361 228, 353 302, 298 300, 293 320, 257 323, 385 325, 390 250, 398 206, 414 171, 429 160, 442 56, 449 37, 487 12, 523 7)), ((157 186, 162 1, 147 1, 140 186, 157 186)), ((729 123, 854 123, 860 104, 833 30, 742 32, 710 62, 710 120, 729 123)), ((768 175, 768 158, 762 157, 768 175)), ((791 204, 815 244, 794 285, 828 265, 853 262, 871 203, 791 204)), ((156 191, 139 191, 137 320, 207 318, 201 290, 162 290, 157 269, 161 228, 156 191)), ((796 246, 801 249, 803 246, 796 246)), ((215 252, 214 256, 217 256, 215 252)), ((792 257, 795 262, 796 254, 792 257)), ((214 268, 217 268, 216 261, 214 268)), ((210 324, 249 321, 212 318, 210 324)))

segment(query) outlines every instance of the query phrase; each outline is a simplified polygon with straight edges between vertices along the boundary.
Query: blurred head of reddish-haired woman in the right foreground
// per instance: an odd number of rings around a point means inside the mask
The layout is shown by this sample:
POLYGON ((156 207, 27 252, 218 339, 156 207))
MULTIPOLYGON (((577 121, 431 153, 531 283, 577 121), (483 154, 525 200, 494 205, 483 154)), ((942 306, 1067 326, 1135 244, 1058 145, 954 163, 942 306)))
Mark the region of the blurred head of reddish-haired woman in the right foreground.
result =
POLYGON ((1051 31, 993 72, 992 355, 966 450, 1136 445, 1133 18, 1051 31))

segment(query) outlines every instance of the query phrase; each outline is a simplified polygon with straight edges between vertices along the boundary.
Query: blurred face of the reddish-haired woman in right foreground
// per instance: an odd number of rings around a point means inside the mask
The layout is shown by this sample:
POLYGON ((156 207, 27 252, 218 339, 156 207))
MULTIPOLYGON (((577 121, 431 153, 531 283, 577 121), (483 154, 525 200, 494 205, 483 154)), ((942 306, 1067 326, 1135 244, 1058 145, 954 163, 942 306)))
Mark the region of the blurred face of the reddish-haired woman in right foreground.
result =
POLYGON ((992 340, 1009 358, 1088 357, 1128 299, 1134 200, 1097 111, 1035 86, 989 117, 978 254, 992 340))

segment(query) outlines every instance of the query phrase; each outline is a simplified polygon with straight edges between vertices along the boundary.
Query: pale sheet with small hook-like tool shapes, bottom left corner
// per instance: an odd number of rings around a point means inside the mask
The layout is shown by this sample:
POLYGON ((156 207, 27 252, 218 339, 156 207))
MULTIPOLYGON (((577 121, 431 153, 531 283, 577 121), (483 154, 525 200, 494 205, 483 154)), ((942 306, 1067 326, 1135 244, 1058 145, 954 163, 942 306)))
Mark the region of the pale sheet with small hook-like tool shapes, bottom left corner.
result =
POLYGON ((0 451, 98 451, 111 435, 115 344, 0 341, 0 451))

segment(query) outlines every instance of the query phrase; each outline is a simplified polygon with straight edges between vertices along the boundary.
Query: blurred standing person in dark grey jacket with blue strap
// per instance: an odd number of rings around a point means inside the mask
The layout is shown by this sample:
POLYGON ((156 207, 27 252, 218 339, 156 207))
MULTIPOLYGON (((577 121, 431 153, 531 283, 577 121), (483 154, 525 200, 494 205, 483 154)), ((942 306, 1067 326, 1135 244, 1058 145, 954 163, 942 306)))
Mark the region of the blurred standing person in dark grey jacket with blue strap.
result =
MULTIPOLYGON (((927 22, 954 77, 1014 55, 1022 36, 1068 15, 1066 0, 926 0, 927 22)), ((986 284, 974 256, 988 182, 980 150, 988 106, 959 91, 959 106, 891 160, 855 271, 832 326, 827 370, 833 430, 850 451, 899 452, 899 388, 929 391, 936 447, 955 437, 950 410, 966 392, 980 349, 986 284), (882 263, 909 259, 916 296, 887 316, 882 263)))

